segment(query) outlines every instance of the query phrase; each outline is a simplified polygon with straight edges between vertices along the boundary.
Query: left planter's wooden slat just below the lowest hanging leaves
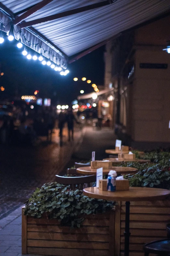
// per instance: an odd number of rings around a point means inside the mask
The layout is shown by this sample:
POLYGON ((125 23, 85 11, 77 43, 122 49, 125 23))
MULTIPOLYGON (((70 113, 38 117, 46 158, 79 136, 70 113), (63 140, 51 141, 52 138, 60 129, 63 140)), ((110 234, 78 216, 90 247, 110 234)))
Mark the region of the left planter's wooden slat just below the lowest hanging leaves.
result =
MULTIPOLYGON (((86 234, 86 233, 71 234, 71 233, 52 233, 52 232, 27 232, 27 239, 109 242, 109 235, 86 234)), ((113 243, 113 240, 112 240, 112 243, 113 243)))

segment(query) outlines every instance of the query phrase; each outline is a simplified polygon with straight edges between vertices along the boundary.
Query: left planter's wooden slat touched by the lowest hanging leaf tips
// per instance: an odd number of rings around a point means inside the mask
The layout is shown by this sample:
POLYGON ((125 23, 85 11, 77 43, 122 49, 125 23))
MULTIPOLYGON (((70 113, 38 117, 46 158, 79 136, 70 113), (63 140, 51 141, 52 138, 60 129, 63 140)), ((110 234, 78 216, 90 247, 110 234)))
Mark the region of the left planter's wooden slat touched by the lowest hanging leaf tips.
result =
POLYGON ((93 226, 86 226, 80 229, 73 229, 71 230, 70 227, 61 227, 55 225, 36 225, 36 224, 28 224, 27 231, 37 231, 37 232, 63 232, 63 233, 87 233, 87 234, 109 234, 108 227, 93 227, 93 226))

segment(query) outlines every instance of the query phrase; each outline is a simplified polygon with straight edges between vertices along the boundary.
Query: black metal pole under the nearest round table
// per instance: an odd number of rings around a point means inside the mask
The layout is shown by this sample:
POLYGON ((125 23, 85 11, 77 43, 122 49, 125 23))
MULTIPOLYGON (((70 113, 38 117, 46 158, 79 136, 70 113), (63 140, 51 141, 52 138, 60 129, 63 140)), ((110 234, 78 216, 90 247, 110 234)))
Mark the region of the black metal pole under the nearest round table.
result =
POLYGON ((125 215, 125 232, 124 232, 124 256, 129 256, 129 222, 130 222, 130 202, 126 202, 126 215, 125 215))

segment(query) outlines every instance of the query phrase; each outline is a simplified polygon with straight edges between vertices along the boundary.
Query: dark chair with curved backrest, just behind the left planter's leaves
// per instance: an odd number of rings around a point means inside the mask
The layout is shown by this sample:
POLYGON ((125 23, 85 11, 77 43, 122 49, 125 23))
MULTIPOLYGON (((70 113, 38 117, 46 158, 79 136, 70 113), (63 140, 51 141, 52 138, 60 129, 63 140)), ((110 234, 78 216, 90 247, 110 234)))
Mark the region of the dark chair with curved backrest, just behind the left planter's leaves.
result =
POLYGON ((70 189, 83 189, 85 184, 91 187, 92 182, 96 181, 96 175, 83 176, 83 177, 62 177, 56 175, 56 181, 60 184, 70 185, 70 189))

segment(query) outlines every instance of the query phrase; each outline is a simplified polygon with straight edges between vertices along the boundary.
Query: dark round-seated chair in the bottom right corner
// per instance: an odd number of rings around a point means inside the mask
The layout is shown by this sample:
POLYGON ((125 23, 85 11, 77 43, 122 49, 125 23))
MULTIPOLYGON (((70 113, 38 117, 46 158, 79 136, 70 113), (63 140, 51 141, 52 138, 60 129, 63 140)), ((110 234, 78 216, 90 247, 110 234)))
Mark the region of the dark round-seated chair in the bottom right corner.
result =
POLYGON ((153 241, 144 245, 145 256, 153 253, 160 256, 170 256, 170 224, 166 225, 167 238, 163 240, 153 241))

